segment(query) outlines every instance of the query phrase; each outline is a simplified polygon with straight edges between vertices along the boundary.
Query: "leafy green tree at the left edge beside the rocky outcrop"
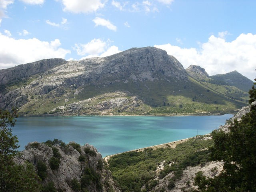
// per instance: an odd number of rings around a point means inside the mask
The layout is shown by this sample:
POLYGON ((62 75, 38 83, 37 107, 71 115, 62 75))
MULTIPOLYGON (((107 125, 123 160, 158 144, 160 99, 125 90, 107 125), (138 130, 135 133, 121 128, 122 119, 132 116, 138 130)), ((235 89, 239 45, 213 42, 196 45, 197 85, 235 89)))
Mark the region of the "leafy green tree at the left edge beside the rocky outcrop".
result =
POLYGON ((0 191, 36 192, 40 191, 40 178, 30 163, 15 164, 14 157, 19 155, 18 138, 12 129, 18 117, 17 111, 0 110, 0 191))

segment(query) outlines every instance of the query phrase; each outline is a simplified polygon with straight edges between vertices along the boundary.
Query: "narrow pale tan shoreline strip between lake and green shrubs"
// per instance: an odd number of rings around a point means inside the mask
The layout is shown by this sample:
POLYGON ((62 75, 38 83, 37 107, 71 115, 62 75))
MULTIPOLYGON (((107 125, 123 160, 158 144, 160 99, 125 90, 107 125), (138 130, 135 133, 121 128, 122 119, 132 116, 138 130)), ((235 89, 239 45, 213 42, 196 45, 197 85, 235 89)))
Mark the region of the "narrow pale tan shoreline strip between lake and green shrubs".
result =
MULTIPOLYGON (((153 146, 144 147, 144 148, 139 148, 139 149, 134 149, 134 150, 125 151, 125 152, 122 152, 122 153, 127 153, 127 152, 132 152, 132 151, 140 152, 140 151, 144 151, 145 149, 149 149, 149 148, 152 148, 153 150, 156 150, 158 148, 176 148, 177 144, 186 142, 190 138, 181 139, 181 140, 177 140, 177 141, 172 141, 172 142, 168 142, 168 143, 164 143, 164 144, 159 144, 159 145, 153 145, 153 146)), ((112 154, 112 155, 106 156, 106 157, 103 158, 103 161, 106 162, 106 164, 108 164, 108 160, 111 157, 116 156, 118 154, 122 154, 122 153, 116 153, 116 154, 112 154)))

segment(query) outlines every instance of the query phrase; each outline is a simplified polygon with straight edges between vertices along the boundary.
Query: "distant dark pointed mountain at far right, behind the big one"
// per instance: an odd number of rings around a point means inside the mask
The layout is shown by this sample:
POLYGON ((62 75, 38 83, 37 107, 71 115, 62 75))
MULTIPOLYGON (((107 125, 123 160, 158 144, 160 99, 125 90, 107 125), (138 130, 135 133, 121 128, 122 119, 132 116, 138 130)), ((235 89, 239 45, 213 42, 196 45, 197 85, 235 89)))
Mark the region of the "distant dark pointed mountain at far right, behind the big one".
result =
POLYGON ((226 84, 229 86, 236 86, 240 90, 248 92, 253 85, 253 81, 246 78, 242 74, 237 71, 232 71, 226 74, 218 74, 210 76, 211 79, 217 80, 222 84, 226 84))

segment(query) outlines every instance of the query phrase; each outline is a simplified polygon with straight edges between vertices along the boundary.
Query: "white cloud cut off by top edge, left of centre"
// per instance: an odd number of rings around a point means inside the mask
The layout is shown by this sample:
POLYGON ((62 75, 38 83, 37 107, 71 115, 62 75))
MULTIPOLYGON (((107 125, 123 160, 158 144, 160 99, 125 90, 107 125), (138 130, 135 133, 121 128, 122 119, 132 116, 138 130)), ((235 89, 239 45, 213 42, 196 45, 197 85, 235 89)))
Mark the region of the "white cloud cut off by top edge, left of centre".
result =
POLYGON ((63 10, 72 13, 91 13, 104 7, 102 0, 62 0, 63 10))

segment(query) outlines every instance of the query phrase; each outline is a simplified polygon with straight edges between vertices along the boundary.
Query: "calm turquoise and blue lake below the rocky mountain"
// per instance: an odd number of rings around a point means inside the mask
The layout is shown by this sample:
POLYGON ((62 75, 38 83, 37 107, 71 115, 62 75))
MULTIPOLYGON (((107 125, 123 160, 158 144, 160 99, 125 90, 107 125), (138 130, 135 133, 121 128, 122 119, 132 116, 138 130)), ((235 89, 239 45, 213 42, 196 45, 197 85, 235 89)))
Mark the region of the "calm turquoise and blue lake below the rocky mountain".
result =
POLYGON ((57 116, 19 117, 12 128, 20 150, 28 142, 75 141, 102 156, 212 132, 233 115, 222 116, 57 116))

